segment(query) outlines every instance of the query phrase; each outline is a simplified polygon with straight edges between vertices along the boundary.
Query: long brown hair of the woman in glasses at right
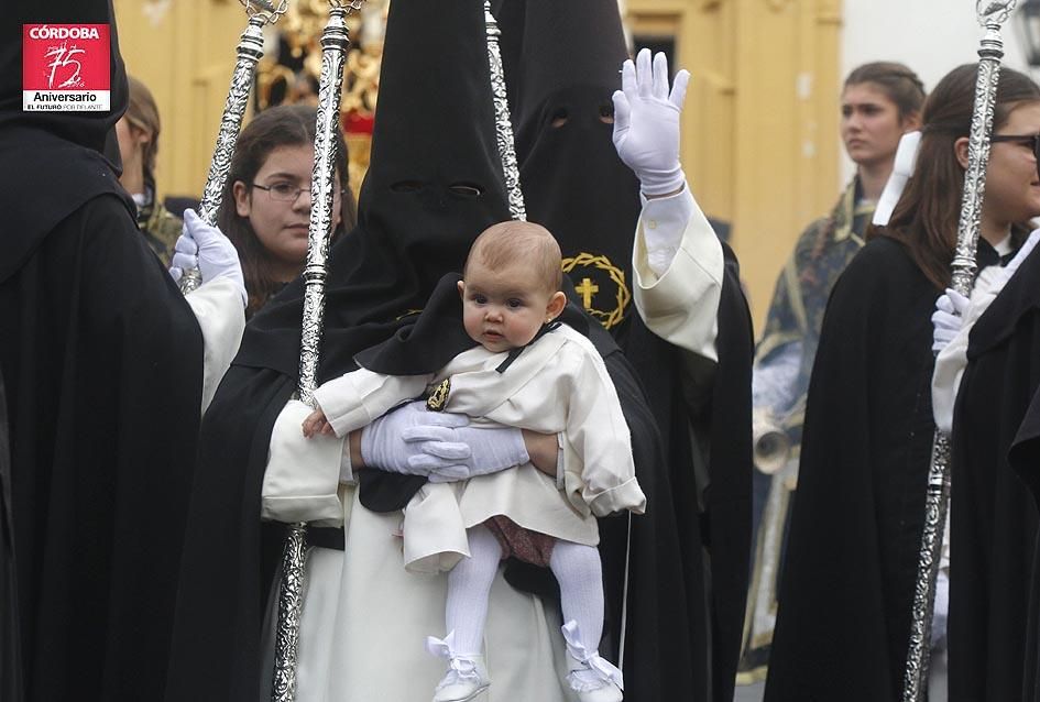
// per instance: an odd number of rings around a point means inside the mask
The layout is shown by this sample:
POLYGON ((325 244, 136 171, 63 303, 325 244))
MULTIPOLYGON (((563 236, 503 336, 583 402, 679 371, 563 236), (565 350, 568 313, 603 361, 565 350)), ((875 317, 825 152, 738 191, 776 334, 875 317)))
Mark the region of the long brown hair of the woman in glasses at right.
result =
MULTIPOLYGON (((937 288, 950 285, 964 168, 954 143, 972 125, 977 64, 959 66, 939 81, 924 102, 921 146, 913 177, 893 212, 888 227, 871 229, 868 238, 886 235, 902 242, 910 256, 937 288)), ((1000 69, 993 129, 1007 123, 1025 103, 1040 102, 1040 87, 1028 76, 1000 69)))

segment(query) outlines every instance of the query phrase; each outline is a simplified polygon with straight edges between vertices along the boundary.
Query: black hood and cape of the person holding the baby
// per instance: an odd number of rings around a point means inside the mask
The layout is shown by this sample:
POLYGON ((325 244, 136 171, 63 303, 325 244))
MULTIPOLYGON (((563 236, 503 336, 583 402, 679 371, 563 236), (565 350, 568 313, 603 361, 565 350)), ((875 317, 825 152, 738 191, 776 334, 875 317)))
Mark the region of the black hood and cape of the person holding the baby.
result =
MULTIPOLYGON (((475 237, 508 219, 483 36, 479 3, 391 6, 358 227, 328 263, 319 383, 408 323, 404 316, 427 305, 441 276, 461 270, 475 237)), ((296 388, 303 294, 298 279, 249 322, 207 412, 167 700, 253 702, 265 684, 261 628, 284 527, 261 524, 261 484, 272 427, 296 388)), ((589 326, 636 465, 656 464, 659 437, 634 374, 610 336, 589 326)), ((342 541, 341 529, 329 531, 309 535, 325 546, 342 541)))

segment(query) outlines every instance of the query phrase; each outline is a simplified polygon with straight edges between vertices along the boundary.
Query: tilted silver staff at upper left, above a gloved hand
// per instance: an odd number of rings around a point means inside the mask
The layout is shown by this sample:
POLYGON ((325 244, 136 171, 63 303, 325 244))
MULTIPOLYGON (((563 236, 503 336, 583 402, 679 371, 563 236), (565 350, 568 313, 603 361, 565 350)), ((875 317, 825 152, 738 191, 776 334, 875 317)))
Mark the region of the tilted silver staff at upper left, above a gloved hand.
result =
MULTIPOLYGON (((217 210, 220 209, 220 197, 223 184, 228 179, 231 168, 231 157, 234 155, 234 142, 242 128, 242 117, 249 105, 249 90, 253 85, 253 74, 256 63, 264 55, 263 29, 274 24, 288 9, 288 0, 281 0, 277 7, 270 0, 239 0, 249 15, 249 24, 242 32, 236 53, 234 73, 231 74, 231 88, 228 90, 228 100, 223 106, 223 117, 220 118, 220 131, 217 133, 217 146, 214 149, 214 160, 209 164, 209 175, 206 187, 202 189, 202 200, 199 204, 198 215, 207 224, 217 223, 217 210)), ((180 277, 180 292, 187 295, 202 283, 198 268, 189 268, 180 277)))

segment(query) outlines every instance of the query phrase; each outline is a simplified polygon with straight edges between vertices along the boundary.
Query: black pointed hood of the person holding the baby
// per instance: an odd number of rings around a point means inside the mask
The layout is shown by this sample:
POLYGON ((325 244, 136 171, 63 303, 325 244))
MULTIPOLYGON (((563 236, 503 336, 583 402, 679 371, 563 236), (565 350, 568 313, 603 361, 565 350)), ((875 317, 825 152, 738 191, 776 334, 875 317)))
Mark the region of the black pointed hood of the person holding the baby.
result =
MULTIPOLYGON (((390 337, 508 218, 481 3, 395 1, 358 227, 329 260, 319 380, 390 337)), ((297 279, 253 318, 237 363, 296 375, 303 295, 297 279)))

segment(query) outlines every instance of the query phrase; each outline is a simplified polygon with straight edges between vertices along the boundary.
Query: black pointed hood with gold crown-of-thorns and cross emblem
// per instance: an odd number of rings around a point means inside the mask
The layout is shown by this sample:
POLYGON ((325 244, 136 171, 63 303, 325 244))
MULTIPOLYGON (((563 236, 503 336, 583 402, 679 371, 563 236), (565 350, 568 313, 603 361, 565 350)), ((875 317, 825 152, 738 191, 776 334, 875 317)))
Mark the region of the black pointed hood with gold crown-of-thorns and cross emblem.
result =
POLYGON ((527 216, 560 242, 577 303, 616 330, 632 309, 639 185, 612 142, 621 64, 615 0, 497 0, 527 216), (592 205, 595 204, 595 205, 592 205))

